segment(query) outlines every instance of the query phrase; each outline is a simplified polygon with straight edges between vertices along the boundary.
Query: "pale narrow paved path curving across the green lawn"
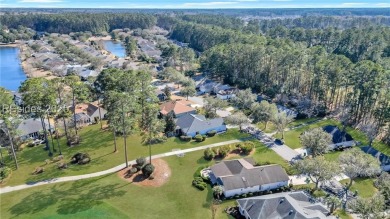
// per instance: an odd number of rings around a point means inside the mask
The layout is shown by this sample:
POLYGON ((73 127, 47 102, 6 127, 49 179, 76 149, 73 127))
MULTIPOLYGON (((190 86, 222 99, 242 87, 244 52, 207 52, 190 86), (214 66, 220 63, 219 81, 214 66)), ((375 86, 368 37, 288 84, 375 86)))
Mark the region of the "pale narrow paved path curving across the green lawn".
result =
MULTIPOLYGON (((184 149, 184 150, 177 150, 177 151, 167 152, 167 153, 163 153, 163 154, 157 154, 157 155, 153 155, 152 159, 168 157, 168 156, 178 155, 178 154, 185 154, 185 153, 189 153, 189 152, 193 152, 193 151, 204 150, 206 148, 212 148, 212 147, 218 147, 218 146, 227 145, 227 144, 233 144, 233 143, 237 143, 240 141, 242 141, 242 140, 238 140, 238 139, 237 140, 230 140, 230 141, 224 141, 224 142, 219 142, 219 143, 215 143, 215 144, 209 144, 209 145, 205 145, 205 146, 195 147, 195 148, 188 148, 188 149, 184 149)), ((135 164, 135 160, 129 161, 129 165, 132 165, 132 164, 135 164)), ((47 184, 53 184, 53 183, 59 183, 59 182, 77 181, 80 179, 88 179, 88 178, 93 178, 93 177, 97 177, 97 176, 103 176, 103 175, 106 175, 109 173, 118 172, 125 167, 126 167, 126 165, 125 165, 125 163, 123 163, 123 164, 118 165, 116 167, 113 167, 111 169, 96 172, 96 173, 53 178, 53 179, 47 179, 47 180, 43 180, 43 181, 39 181, 39 182, 23 184, 23 185, 18 185, 18 186, 6 186, 3 188, 0 188, 0 194, 18 191, 18 190, 27 189, 27 188, 32 188, 32 187, 36 187, 36 186, 40 186, 40 185, 47 185, 47 184)))

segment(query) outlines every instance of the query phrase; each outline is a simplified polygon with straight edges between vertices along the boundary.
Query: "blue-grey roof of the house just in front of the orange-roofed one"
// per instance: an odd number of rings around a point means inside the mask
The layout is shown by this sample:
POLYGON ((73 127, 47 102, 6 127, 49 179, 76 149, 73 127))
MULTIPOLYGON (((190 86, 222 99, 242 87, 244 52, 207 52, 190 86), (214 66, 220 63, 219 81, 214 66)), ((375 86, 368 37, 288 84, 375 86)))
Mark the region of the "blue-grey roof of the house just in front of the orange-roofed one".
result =
POLYGON ((224 124, 222 118, 207 120, 203 115, 187 114, 177 119, 176 125, 184 133, 200 132, 217 128, 224 124))

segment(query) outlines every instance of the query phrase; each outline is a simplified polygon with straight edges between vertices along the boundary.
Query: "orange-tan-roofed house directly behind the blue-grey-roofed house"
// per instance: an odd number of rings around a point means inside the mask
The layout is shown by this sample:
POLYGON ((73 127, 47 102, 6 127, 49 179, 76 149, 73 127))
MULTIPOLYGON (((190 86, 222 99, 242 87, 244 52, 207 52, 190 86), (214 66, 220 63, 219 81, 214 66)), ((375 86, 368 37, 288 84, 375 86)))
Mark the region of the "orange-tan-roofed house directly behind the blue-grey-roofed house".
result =
POLYGON ((191 104, 184 100, 172 100, 160 104, 160 114, 166 116, 173 112, 175 118, 180 118, 186 114, 195 114, 196 109, 190 106, 191 104))

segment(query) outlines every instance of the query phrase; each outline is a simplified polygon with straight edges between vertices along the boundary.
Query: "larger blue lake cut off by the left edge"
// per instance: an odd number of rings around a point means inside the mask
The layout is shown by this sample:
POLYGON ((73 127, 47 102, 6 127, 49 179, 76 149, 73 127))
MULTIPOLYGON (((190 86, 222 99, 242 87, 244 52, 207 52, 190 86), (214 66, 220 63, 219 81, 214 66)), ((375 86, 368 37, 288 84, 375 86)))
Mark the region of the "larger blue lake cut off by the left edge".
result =
POLYGON ((0 47, 0 86, 17 91, 24 80, 26 74, 20 63, 19 48, 0 47))

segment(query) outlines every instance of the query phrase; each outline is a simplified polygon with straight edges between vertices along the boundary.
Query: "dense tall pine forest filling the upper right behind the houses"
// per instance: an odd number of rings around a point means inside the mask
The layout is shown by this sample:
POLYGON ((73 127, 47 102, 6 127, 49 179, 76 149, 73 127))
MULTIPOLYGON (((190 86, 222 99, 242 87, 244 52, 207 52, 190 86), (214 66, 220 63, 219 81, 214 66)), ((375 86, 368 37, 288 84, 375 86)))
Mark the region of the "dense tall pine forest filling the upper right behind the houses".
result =
POLYGON ((231 18, 192 15, 161 16, 158 24, 203 52, 201 68, 210 77, 271 97, 287 95, 289 104, 306 105, 306 113, 346 109, 351 124, 388 126, 390 28, 375 22, 340 27, 340 20, 277 19, 267 29, 264 21, 252 21, 259 28, 248 29, 231 18))

